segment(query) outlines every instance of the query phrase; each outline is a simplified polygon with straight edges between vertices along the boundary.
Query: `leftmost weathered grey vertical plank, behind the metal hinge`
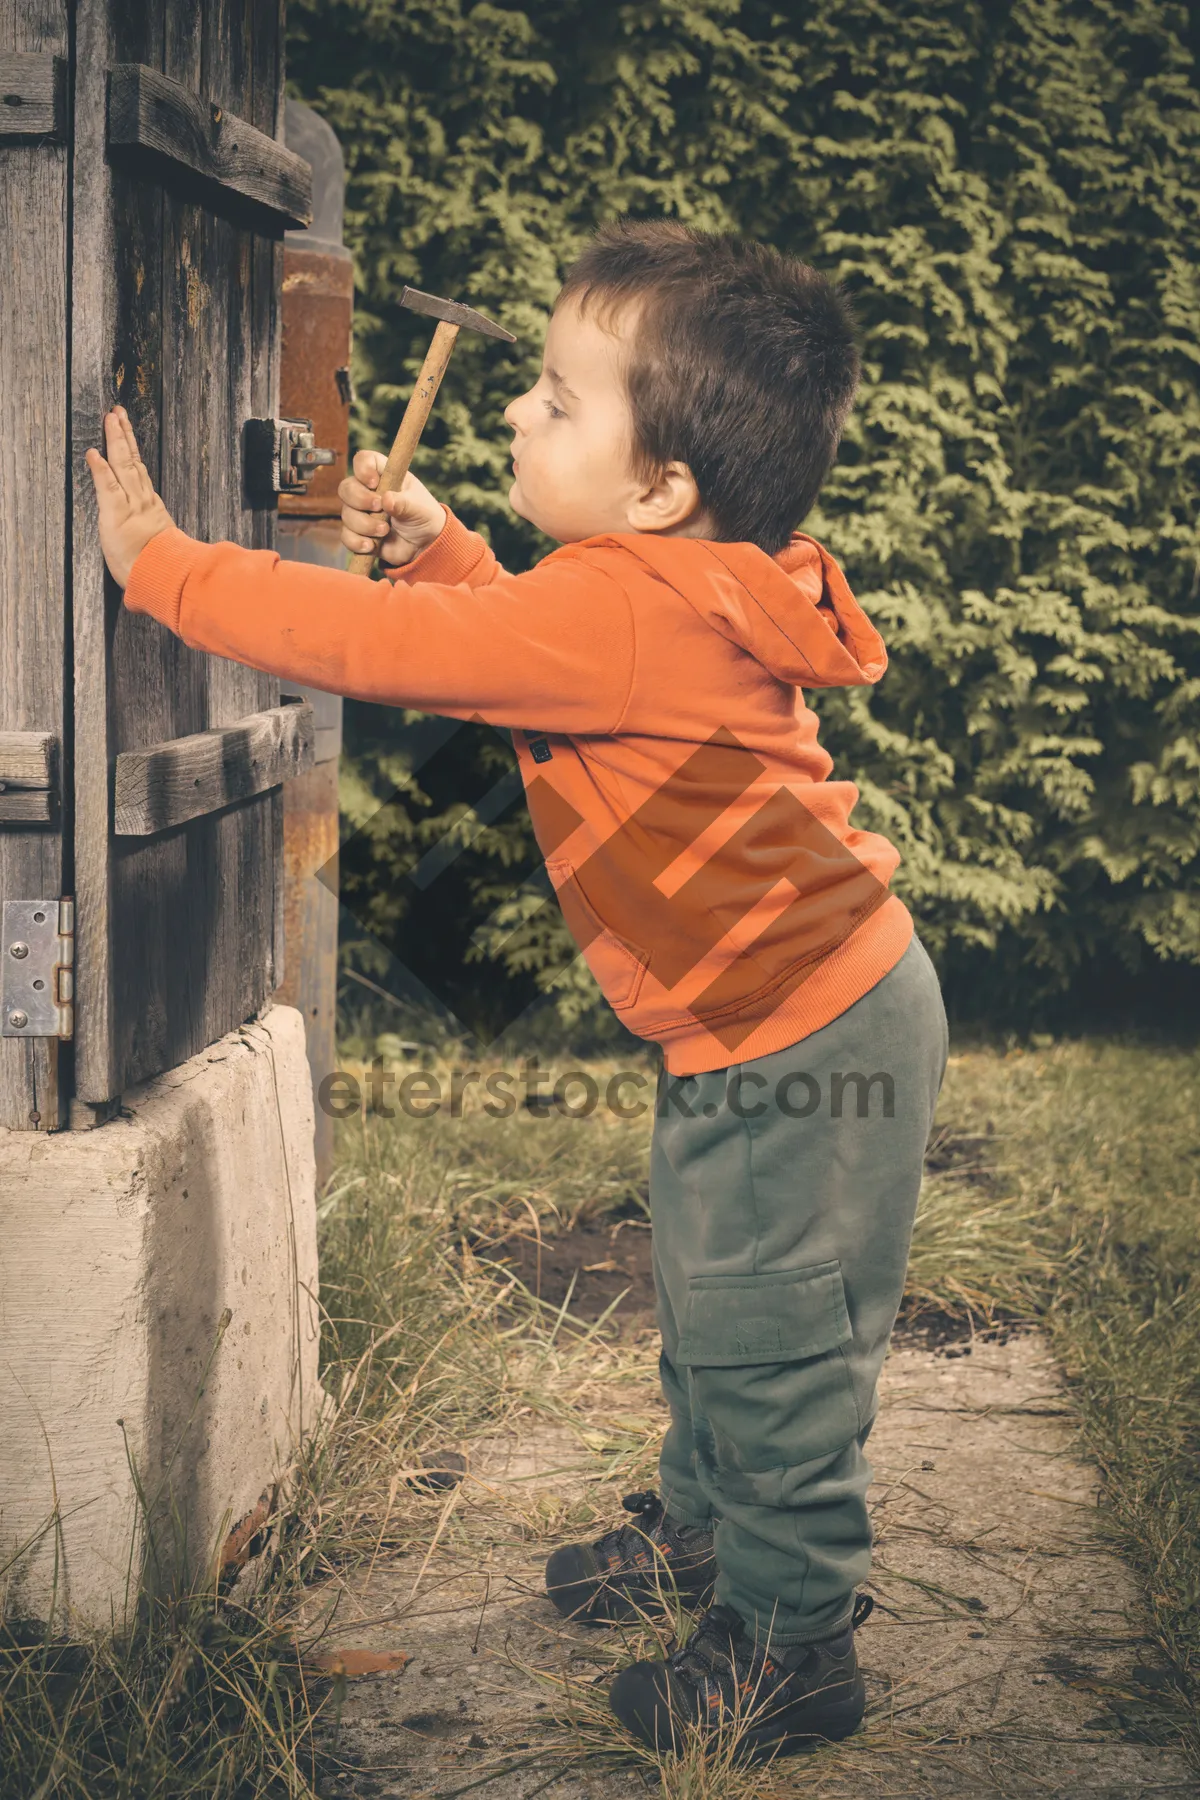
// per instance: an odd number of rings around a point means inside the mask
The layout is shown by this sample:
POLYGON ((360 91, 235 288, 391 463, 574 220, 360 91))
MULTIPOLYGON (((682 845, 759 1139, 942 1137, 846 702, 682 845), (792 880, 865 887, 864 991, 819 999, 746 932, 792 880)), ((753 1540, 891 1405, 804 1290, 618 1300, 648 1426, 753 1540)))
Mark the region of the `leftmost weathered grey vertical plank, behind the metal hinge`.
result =
MULTIPOLYGON (((67 0, 2 0, 0 61, 34 58, 43 68, 68 49, 67 0)), ((41 79, 41 77, 38 77, 41 79)), ((4 92, 23 86, 0 83, 4 92)), ((0 140, 0 731, 52 733, 70 769, 67 715, 67 149, 47 133, 0 140), (65 736, 67 733, 67 736, 65 736)), ((49 788, 34 788, 34 819, 0 830, 0 896, 54 898, 63 891, 59 819, 41 815, 49 788)), ((58 1039, 0 1039, 0 1125, 56 1130, 65 1123, 58 1039)))

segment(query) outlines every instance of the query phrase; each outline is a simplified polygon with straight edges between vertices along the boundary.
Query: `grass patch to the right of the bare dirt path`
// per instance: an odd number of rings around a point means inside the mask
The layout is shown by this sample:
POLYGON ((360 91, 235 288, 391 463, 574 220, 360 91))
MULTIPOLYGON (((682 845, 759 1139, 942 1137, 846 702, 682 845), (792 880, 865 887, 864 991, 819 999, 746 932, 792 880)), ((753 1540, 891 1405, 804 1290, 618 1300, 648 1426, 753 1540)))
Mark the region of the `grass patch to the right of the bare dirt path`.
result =
POLYGON ((957 1057, 943 1094, 945 1116, 993 1121, 995 1179, 1054 1233, 1038 1310, 1175 1672, 1162 1721, 1196 1768, 1198 1084, 1195 1049, 1083 1040, 957 1057))

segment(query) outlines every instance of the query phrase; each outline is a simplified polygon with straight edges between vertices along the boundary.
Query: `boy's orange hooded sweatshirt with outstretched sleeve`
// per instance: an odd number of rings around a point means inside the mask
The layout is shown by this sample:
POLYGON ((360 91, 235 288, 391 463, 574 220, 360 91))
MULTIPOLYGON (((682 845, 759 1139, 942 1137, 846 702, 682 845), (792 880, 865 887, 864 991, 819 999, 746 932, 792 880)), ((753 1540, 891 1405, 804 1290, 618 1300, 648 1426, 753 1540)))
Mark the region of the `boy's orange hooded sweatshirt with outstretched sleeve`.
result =
POLYGON ((383 706, 513 727, 533 828, 606 999, 671 1075, 784 1049, 905 952, 898 851, 851 826, 804 688, 876 682, 883 643, 797 533, 619 533, 506 574, 448 509, 372 581, 171 527, 124 603, 196 650, 383 706))

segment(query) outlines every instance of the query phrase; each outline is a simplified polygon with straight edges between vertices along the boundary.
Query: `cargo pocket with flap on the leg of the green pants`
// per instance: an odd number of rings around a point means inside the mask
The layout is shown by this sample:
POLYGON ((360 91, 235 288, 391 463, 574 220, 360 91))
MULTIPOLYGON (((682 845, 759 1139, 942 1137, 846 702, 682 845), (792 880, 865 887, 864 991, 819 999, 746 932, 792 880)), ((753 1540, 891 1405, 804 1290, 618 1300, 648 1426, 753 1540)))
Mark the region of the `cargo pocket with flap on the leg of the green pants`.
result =
POLYGON ((693 1276, 675 1363, 687 1370, 700 1472, 729 1499, 779 1505, 784 1471, 858 1436, 851 1336, 838 1262, 693 1276))

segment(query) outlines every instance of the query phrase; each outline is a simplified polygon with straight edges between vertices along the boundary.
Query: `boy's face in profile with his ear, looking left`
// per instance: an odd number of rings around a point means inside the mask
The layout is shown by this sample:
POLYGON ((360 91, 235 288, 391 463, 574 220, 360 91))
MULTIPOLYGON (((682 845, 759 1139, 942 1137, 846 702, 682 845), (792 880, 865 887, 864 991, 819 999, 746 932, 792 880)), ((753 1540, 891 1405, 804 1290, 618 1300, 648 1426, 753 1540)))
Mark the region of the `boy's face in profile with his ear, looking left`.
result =
POLYGON ((509 506, 558 544, 608 531, 711 535, 689 470, 630 472, 633 419, 621 374, 622 315, 612 329, 565 301, 551 319, 542 374, 504 410, 513 439, 509 506))

